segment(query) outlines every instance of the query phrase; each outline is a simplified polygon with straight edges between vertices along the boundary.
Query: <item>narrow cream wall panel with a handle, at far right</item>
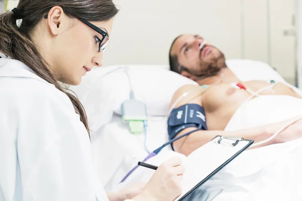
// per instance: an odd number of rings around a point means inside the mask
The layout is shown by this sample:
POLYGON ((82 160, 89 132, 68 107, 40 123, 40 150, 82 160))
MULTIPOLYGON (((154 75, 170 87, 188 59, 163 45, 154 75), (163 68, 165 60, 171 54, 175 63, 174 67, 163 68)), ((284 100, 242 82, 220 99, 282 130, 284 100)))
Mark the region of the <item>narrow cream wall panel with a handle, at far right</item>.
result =
POLYGON ((294 3, 294 0, 269 0, 270 64, 290 83, 295 82, 296 71, 294 3))

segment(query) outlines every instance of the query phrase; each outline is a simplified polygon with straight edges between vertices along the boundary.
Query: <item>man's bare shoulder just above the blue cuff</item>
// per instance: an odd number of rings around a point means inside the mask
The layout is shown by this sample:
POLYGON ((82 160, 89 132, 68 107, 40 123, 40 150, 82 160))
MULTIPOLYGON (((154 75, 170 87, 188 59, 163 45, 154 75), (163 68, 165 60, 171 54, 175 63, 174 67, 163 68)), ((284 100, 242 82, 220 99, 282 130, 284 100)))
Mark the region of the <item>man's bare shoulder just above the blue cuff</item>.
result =
POLYGON ((175 105, 174 108, 180 107, 184 104, 191 102, 190 100, 195 99, 203 90, 204 89, 200 88, 199 85, 194 84, 186 84, 181 86, 175 91, 171 99, 170 107, 172 107, 172 105, 176 101, 178 101, 178 103, 175 105))

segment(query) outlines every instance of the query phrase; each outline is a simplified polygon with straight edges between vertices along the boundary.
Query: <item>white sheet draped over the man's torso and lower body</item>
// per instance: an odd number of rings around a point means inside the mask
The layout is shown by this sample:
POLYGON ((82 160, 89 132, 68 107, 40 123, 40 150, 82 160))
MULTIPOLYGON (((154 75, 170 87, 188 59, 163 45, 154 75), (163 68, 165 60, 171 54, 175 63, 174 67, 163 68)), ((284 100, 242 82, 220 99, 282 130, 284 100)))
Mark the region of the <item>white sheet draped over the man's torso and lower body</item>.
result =
MULTIPOLYGON (((241 106, 225 130, 246 129, 300 115, 302 99, 284 95, 260 96, 241 106)), ((225 180, 219 180, 223 174, 229 174, 229 180, 233 180, 214 200, 301 200, 301 145, 302 139, 297 139, 245 151, 207 184, 210 187, 223 184, 225 180)))

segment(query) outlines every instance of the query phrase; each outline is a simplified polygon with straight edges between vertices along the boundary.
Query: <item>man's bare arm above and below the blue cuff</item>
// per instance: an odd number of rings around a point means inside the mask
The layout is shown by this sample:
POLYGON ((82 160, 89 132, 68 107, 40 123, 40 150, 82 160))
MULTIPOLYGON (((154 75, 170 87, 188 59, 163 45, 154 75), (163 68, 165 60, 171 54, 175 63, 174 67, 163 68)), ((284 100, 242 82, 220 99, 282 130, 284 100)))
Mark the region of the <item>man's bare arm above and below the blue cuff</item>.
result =
MULTIPOLYGON (((176 101, 178 97, 180 97, 184 92, 188 90, 192 90, 192 88, 196 88, 196 90, 193 90, 188 96, 185 98, 182 98, 181 101, 175 106, 175 108, 182 106, 187 103, 194 103, 194 104, 199 104, 202 105, 202 95, 200 95, 200 89, 198 91, 198 86, 194 85, 185 85, 179 88, 173 98, 171 105, 176 101)), ((202 91, 201 91, 202 92, 202 91)), ((180 152, 184 155, 189 155, 191 152, 199 148, 200 146, 204 145, 205 143, 209 142, 212 140, 215 136, 221 135, 225 137, 238 137, 238 138, 245 138, 245 139, 250 139, 254 140, 255 142, 260 142, 263 140, 268 139, 271 137, 275 132, 277 132, 283 125, 287 124, 291 120, 283 121, 283 122, 278 122, 274 124, 269 124, 265 126, 259 126, 255 128, 249 128, 249 129, 244 129, 244 130, 238 130, 238 131, 196 131, 189 136, 183 137, 173 143, 173 148, 175 151, 180 152)), ((176 137, 183 135, 189 131, 195 130, 196 128, 187 128, 181 131, 176 137)), ((289 140, 293 140, 299 137, 302 137, 302 121, 298 121, 294 125, 288 127, 285 129, 283 132, 281 132, 277 137, 275 137, 273 140, 253 147, 261 147, 261 146, 266 146, 270 144, 275 144, 275 143, 282 143, 282 142, 287 142, 289 140)))

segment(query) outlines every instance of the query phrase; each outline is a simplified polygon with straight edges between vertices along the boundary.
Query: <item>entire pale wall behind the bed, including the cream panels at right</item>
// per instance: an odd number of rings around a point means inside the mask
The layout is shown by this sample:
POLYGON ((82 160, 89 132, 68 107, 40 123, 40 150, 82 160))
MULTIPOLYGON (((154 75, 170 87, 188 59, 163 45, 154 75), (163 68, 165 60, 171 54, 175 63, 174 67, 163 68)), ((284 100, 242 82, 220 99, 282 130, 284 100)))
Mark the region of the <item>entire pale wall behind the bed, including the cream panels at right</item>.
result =
POLYGON ((114 0, 121 10, 104 64, 167 65, 172 40, 193 33, 226 58, 264 61, 294 84, 295 36, 284 35, 294 31, 294 1, 114 0))

